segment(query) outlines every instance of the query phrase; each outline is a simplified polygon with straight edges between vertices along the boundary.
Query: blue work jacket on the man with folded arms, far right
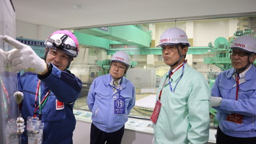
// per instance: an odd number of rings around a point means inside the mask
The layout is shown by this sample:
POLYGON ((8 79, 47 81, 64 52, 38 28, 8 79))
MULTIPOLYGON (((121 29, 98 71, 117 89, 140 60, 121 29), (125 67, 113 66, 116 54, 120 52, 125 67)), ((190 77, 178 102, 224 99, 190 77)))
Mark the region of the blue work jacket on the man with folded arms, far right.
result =
POLYGON ((245 73, 245 81, 239 84, 237 100, 234 73, 234 68, 219 73, 211 91, 211 96, 222 97, 220 107, 214 107, 217 109, 219 127, 222 132, 232 137, 256 137, 256 68, 252 65, 245 73), (226 120, 227 115, 233 113, 242 114, 242 124, 226 120))

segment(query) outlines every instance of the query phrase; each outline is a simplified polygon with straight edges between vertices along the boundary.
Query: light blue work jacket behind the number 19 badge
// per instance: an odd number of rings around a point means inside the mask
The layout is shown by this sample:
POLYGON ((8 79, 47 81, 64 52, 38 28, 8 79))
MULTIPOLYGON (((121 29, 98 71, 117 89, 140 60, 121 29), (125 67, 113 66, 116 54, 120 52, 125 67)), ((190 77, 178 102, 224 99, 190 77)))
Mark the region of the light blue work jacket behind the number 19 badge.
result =
POLYGON ((125 125, 136 99, 134 86, 127 78, 122 78, 120 82, 122 89, 115 94, 110 81, 112 81, 110 74, 95 78, 87 97, 87 104, 92 112, 92 122, 104 132, 115 132, 125 125), (125 114, 114 114, 114 99, 119 96, 125 98, 125 114))

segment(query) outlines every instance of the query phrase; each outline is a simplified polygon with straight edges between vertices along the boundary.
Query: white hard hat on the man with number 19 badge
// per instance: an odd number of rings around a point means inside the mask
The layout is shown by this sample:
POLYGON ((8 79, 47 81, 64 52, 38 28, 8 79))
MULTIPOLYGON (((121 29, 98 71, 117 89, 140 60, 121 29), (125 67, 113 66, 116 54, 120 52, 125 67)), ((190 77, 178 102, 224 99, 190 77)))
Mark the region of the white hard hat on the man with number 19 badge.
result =
POLYGON ((128 55, 128 53, 120 50, 114 53, 114 55, 112 55, 112 58, 110 59, 110 61, 118 61, 120 63, 125 64, 126 66, 130 66, 130 61, 131 58, 128 55))

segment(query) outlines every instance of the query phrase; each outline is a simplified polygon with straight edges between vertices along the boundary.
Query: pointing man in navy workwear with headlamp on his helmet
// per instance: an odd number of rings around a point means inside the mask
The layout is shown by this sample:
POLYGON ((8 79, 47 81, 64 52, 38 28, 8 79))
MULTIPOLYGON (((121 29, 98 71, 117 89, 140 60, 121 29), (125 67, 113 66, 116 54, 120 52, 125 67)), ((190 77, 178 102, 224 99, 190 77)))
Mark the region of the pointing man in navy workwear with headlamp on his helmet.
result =
MULTIPOLYGON (((74 34, 67 30, 53 32, 45 41, 45 60, 39 58, 30 46, 12 37, 4 36, 4 40, 14 46, 7 54, 14 71, 28 71, 19 78, 19 91, 24 94, 20 109, 22 117, 25 121, 27 117, 38 118, 44 123, 43 143, 73 143, 76 125, 73 106, 81 91, 81 80, 67 70, 79 52, 74 34)), ((22 143, 28 143, 28 140, 25 132, 22 143)))

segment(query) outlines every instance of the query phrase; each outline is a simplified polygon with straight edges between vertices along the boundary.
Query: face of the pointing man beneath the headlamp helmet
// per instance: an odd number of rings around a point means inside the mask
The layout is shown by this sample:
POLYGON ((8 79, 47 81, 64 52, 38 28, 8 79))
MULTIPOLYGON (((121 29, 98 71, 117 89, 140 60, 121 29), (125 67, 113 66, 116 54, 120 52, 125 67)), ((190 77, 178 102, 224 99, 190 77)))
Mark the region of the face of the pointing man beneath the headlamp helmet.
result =
POLYGON ((50 48, 45 60, 46 63, 52 63, 61 71, 65 70, 69 63, 69 55, 61 50, 50 48))

